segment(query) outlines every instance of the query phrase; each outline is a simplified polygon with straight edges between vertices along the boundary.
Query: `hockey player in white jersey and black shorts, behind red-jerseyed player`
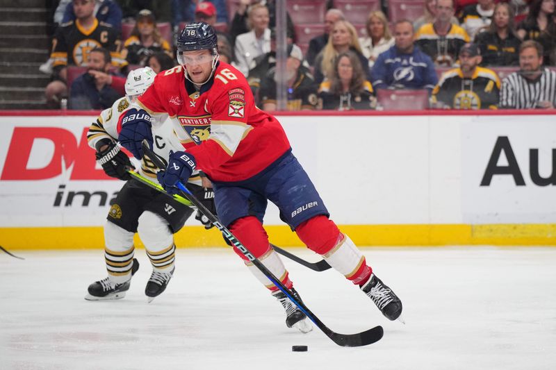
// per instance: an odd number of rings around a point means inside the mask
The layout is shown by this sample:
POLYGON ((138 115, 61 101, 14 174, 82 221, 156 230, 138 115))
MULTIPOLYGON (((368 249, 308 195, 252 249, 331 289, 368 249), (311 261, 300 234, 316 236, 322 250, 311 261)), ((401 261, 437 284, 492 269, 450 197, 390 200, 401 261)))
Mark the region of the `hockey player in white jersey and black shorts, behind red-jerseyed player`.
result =
MULTIPOLYGON (((164 292, 175 269, 174 233, 183 227, 193 213, 186 205, 132 178, 127 171, 133 169, 133 165, 117 144, 118 117, 147 90, 155 75, 149 67, 130 72, 125 85, 126 96, 115 101, 112 108, 102 111, 88 131, 88 143, 97 151, 97 161, 106 174, 126 180, 104 225, 104 255, 108 277, 89 285, 85 299, 90 301, 124 298, 131 276, 138 269, 138 262, 133 258, 135 233, 139 234, 145 244, 147 256, 152 263, 152 275, 145 287, 149 302, 164 292)), ((161 158, 168 158, 170 151, 183 150, 171 125, 162 125, 154 132, 153 150, 161 158)), ((142 159, 138 171, 142 176, 156 181, 158 169, 148 157, 142 159)), ((190 179, 188 187, 215 212, 212 189, 202 187, 202 184, 208 185, 206 181, 197 173, 190 179)), ((205 228, 211 228, 211 223, 200 213, 197 213, 196 218, 205 228)))

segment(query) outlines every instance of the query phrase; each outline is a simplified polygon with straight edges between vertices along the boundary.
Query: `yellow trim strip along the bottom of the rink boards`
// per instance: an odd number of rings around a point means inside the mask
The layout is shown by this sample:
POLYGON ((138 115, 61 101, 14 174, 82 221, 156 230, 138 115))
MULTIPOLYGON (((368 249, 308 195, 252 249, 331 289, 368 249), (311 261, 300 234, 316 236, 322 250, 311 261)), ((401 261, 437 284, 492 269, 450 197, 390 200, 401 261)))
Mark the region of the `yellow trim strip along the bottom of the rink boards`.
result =
MULTIPOLYGON (((288 226, 265 226, 270 242, 277 246, 304 246, 288 226)), ((556 224, 491 225, 344 225, 341 231, 359 246, 556 246, 556 224)), ((222 235, 212 228, 186 226, 174 236, 178 248, 223 247, 222 235)), ((98 227, 0 228, 0 243, 17 249, 99 249, 104 233, 98 227)), ((134 244, 144 248, 135 237, 134 244)))

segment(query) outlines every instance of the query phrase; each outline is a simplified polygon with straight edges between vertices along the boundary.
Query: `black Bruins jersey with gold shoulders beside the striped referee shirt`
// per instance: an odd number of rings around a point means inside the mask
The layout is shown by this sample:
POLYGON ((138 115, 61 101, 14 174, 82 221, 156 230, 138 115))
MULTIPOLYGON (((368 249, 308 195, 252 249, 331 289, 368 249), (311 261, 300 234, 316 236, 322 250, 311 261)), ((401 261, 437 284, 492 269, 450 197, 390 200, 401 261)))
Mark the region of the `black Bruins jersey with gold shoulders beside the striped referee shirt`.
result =
POLYGON ((500 95, 500 78, 488 68, 475 67, 471 78, 461 69, 450 69, 432 90, 432 101, 454 109, 496 109, 500 95))

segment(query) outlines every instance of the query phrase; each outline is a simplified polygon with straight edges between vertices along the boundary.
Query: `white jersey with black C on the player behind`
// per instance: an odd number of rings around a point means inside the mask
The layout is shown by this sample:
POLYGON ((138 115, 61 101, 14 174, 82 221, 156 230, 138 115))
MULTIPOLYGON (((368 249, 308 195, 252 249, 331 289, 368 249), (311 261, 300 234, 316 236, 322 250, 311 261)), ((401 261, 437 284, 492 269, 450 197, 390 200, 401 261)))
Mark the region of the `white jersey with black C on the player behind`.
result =
MULTIPOLYGON (((117 142, 117 121, 122 112, 130 108, 130 106, 130 101, 124 96, 123 98, 117 99, 111 108, 105 109, 100 113, 97 121, 91 124, 87 133, 88 144, 92 149, 96 150, 96 145, 99 140, 108 139, 112 142, 117 142)), ((170 151, 184 150, 181 141, 174 132, 173 125, 174 123, 172 123, 172 118, 170 117, 162 124, 153 125, 152 128, 154 141, 153 151, 163 158, 163 162, 165 163, 167 162, 167 158, 170 157, 170 151)), ((134 162, 136 160, 132 157, 131 161, 134 162)), ((156 168, 147 155, 142 158, 140 164, 136 162, 134 164, 138 167, 139 174, 157 181, 156 172, 158 172, 158 168, 156 168)), ((199 171, 193 173, 188 183, 202 185, 199 171)))

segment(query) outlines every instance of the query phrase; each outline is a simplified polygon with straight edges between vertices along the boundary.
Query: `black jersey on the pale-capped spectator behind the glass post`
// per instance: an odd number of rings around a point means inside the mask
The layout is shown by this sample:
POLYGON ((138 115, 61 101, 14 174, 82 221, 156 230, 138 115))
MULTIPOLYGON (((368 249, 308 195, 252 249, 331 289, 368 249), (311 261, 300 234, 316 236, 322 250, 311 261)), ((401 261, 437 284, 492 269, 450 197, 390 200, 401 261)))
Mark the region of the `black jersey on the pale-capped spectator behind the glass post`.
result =
MULTIPOLYGON (((276 103, 276 67, 272 67, 261 83, 261 103, 276 103)), ((315 81, 306 67, 301 66, 293 86, 288 89, 288 110, 312 110, 318 103, 315 81)))

